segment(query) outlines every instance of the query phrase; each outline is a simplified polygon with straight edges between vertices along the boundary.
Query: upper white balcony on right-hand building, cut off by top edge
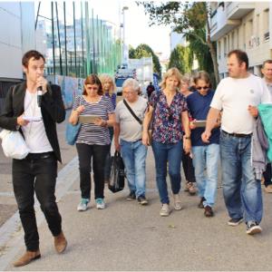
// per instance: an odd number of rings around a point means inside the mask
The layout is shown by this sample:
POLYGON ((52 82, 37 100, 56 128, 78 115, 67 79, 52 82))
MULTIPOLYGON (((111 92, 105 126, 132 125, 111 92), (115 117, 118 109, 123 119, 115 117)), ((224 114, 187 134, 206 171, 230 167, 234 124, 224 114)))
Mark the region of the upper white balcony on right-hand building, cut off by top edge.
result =
POLYGON ((255 2, 228 2, 225 5, 227 17, 230 20, 241 19, 255 8, 255 2))

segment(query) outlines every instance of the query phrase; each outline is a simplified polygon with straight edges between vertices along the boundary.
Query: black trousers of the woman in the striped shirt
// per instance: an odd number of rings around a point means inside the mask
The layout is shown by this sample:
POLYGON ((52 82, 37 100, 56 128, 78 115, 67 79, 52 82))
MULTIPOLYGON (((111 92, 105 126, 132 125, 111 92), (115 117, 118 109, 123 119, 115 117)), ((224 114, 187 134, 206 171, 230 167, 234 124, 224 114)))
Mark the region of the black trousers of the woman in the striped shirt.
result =
POLYGON ((83 199, 91 199, 91 170, 93 169, 94 198, 104 198, 104 166, 108 145, 77 143, 79 159, 80 186, 83 199), (91 169, 92 160, 92 169, 91 169))

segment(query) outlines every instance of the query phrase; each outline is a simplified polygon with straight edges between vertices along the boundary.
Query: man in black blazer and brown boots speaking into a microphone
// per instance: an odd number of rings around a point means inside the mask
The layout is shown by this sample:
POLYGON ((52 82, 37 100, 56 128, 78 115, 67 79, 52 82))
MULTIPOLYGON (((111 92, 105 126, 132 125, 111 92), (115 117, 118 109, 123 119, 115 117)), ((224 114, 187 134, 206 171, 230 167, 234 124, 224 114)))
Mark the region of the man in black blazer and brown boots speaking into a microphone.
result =
POLYGON ((26 246, 24 255, 15 261, 15 267, 41 257, 34 193, 53 234, 56 251, 62 253, 67 246, 54 196, 57 160, 61 161, 56 122, 64 121, 65 109, 60 87, 48 84, 44 78, 44 62, 44 56, 37 51, 24 53, 22 64, 26 81, 7 92, 0 116, 1 126, 6 130, 19 130, 30 150, 23 160, 13 160, 13 186, 26 246))

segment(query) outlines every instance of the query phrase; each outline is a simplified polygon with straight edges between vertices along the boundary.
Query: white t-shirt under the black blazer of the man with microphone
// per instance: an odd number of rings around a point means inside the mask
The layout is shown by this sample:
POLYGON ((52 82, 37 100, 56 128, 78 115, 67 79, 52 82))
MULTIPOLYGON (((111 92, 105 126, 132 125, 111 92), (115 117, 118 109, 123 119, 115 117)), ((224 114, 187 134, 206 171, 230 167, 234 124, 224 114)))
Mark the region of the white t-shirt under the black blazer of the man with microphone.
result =
MULTIPOLYGON (((30 153, 44 153, 53 151, 53 148, 48 141, 44 129, 44 121, 42 118, 41 108, 37 104, 37 93, 31 93, 26 90, 24 97, 24 116, 35 117, 26 126, 22 126, 24 140, 30 149, 30 153)), ((30 118, 31 119, 31 118, 30 118)))

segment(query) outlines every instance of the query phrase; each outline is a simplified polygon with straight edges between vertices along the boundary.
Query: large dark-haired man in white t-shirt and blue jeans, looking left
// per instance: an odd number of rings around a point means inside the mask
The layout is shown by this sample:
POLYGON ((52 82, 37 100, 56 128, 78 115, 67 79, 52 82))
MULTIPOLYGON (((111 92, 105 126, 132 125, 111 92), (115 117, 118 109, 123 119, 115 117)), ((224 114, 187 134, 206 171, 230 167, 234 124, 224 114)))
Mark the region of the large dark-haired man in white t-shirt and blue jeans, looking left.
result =
POLYGON ((251 166, 251 135, 257 117, 257 105, 270 102, 266 84, 248 73, 248 55, 240 50, 228 53, 228 77, 223 79, 210 104, 202 140, 209 142, 219 112, 222 111, 220 152, 225 204, 229 226, 243 220, 247 233, 261 232, 263 204, 260 180, 251 166))

